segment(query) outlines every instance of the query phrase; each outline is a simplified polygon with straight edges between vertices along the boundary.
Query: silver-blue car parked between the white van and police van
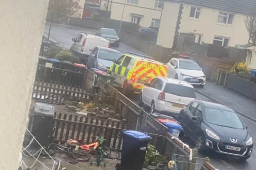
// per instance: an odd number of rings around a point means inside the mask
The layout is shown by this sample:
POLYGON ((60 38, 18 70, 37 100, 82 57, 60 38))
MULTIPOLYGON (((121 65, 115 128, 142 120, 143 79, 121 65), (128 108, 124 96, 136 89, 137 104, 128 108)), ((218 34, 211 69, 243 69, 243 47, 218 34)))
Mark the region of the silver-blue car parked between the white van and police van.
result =
POLYGON ((121 53, 115 49, 97 46, 88 57, 87 67, 108 71, 113 61, 120 56, 121 53))

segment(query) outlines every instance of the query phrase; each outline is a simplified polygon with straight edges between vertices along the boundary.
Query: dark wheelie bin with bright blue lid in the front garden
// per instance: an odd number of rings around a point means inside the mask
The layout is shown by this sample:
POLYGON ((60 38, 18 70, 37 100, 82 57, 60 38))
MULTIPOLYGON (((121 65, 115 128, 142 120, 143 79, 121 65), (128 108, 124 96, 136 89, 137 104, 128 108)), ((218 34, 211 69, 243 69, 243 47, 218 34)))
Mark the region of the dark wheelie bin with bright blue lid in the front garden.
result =
POLYGON ((123 147, 120 170, 142 170, 150 136, 126 130, 122 132, 123 147))

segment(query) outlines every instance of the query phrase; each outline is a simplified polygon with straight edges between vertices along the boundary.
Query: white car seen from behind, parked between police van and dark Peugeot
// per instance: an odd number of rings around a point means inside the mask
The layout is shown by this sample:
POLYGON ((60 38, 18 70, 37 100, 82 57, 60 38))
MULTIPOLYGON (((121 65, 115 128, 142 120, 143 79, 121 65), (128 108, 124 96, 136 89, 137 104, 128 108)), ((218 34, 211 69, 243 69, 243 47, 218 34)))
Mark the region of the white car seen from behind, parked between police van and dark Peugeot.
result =
POLYGON ((150 106, 150 113, 165 112, 178 116, 180 110, 196 98, 194 87, 186 81, 155 77, 145 83, 139 105, 150 106))

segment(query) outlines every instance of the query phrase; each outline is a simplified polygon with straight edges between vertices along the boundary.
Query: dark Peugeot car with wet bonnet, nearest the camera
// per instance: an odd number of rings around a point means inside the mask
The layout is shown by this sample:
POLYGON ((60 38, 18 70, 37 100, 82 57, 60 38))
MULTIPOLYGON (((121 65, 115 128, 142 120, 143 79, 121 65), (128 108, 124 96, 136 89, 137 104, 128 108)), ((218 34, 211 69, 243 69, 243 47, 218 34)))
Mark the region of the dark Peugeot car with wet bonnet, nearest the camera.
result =
POLYGON ((250 158, 252 137, 232 109, 196 100, 180 111, 178 121, 198 150, 208 148, 241 160, 250 158))

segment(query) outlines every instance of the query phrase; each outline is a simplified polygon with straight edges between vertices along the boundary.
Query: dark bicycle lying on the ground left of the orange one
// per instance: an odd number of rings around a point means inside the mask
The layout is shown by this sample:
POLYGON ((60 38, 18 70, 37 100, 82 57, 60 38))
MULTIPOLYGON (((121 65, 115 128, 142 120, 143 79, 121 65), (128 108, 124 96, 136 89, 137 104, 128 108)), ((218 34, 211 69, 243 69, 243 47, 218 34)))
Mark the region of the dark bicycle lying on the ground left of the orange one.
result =
POLYGON ((90 156, 81 150, 76 150, 78 147, 76 145, 69 145, 68 146, 63 146, 55 143, 51 143, 48 146, 49 149, 52 149, 54 151, 59 150, 65 154, 67 154, 69 157, 72 157, 78 161, 88 161, 90 160, 90 156))

